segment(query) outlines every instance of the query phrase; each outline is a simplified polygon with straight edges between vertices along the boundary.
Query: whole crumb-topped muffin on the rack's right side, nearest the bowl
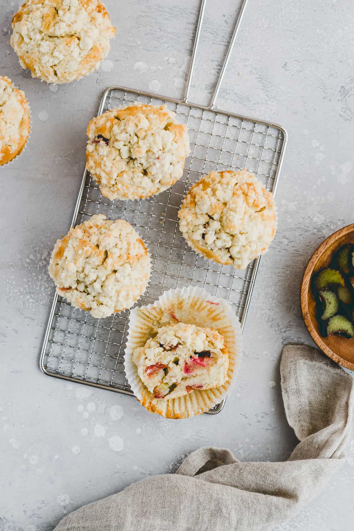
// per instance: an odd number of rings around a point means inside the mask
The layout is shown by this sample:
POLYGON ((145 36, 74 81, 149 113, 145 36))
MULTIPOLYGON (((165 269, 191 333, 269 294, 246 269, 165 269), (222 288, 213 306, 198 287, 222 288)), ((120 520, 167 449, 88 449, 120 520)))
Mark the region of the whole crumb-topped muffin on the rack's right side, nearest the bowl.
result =
POLYGON ((277 228, 272 193, 245 169, 201 178, 184 198, 178 217, 192 249, 235 269, 245 269, 264 254, 277 228))

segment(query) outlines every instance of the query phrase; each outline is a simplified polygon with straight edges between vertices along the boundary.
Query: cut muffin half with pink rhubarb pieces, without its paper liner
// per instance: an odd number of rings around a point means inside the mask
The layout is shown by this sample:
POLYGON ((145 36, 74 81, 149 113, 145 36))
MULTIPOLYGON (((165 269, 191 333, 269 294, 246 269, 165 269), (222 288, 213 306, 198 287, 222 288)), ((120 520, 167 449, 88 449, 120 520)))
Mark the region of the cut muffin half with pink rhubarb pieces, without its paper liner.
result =
POLYGON ((156 337, 134 350, 133 362, 152 398, 169 400, 221 386, 229 357, 217 330, 179 322, 159 328, 156 337))

